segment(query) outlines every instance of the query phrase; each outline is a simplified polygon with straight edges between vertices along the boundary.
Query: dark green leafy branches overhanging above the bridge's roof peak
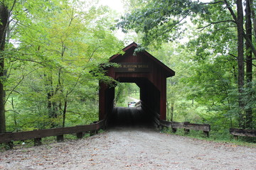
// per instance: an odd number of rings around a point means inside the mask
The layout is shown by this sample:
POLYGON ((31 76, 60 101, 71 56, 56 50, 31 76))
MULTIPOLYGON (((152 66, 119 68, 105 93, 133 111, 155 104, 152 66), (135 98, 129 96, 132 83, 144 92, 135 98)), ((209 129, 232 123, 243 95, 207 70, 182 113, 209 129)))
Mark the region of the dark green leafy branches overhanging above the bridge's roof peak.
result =
POLYGON ((134 8, 131 13, 121 18, 117 27, 122 28, 125 33, 127 30, 143 33, 144 45, 180 38, 181 33, 186 30, 181 26, 186 23, 187 16, 193 13, 206 13, 201 4, 190 0, 149 0, 140 3, 137 3, 139 8, 134 8))

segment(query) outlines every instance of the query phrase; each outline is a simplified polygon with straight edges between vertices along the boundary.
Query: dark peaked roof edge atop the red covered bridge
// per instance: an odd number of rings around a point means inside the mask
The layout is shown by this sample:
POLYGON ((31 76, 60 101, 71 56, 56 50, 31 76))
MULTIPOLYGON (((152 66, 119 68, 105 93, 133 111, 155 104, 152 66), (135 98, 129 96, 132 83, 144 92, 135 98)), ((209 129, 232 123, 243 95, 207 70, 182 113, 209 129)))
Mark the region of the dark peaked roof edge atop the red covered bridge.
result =
MULTIPOLYGON (((132 51, 132 54, 134 53, 134 50, 138 47, 136 42, 132 42, 132 44, 127 45, 127 47, 124 47, 124 49, 122 49, 122 51, 124 52, 130 52, 132 51)), ((152 62, 154 62, 154 64, 158 65, 159 67, 161 67, 161 69, 163 69, 163 71, 165 72, 166 77, 173 77, 175 75, 174 70, 170 69, 169 67, 167 67, 163 62, 161 62, 160 60, 156 59, 156 57, 154 57, 153 55, 149 54, 149 52, 147 52, 146 50, 144 50, 143 52, 139 52, 139 55, 144 55, 146 57, 149 58, 149 60, 151 60, 152 62)), ((110 62, 115 62, 115 60, 117 60, 119 57, 122 57, 122 54, 117 54, 117 55, 113 55, 112 57, 110 57, 110 62)))

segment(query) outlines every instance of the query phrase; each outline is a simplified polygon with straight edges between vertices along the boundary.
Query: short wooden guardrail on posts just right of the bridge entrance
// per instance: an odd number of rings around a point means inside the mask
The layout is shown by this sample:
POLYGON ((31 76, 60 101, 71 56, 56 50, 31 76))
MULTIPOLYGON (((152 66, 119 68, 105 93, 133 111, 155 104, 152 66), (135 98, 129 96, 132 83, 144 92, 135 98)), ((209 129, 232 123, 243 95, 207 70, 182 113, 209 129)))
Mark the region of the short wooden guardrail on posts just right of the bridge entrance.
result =
POLYGON ((176 123, 176 122, 169 122, 166 120, 160 120, 160 125, 162 127, 168 127, 172 129, 172 132, 176 132, 177 128, 184 128, 185 133, 189 133, 190 130, 202 130, 203 133, 209 137, 210 132, 210 125, 209 124, 196 124, 196 123, 176 123))

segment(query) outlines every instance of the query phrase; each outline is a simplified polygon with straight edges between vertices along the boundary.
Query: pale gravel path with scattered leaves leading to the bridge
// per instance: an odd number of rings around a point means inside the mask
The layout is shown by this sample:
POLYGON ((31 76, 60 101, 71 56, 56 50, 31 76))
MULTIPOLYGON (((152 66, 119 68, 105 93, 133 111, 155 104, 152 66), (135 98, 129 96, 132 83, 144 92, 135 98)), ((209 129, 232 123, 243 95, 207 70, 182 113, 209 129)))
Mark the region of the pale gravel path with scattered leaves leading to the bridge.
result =
POLYGON ((82 140, 0 153, 0 169, 256 169, 256 148, 115 128, 82 140))

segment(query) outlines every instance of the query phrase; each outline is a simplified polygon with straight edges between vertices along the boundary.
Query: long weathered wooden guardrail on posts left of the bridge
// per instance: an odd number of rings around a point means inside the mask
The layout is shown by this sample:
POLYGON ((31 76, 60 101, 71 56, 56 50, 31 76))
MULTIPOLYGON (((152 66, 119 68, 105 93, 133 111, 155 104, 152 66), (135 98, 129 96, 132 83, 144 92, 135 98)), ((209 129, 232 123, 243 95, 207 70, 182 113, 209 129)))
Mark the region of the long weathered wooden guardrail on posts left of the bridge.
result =
POLYGON ((101 128, 105 128, 105 120, 101 120, 90 125, 78 125, 67 128, 53 128, 45 130, 33 130, 26 132, 6 132, 0 133, 0 143, 7 143, 10 148, 14 147, 14 141, 34 139, 34 145, 42 145, 42 137, 56 136, 57 142, 64 140, 63 135, 76 134, 78 138, 82 138, 83 132, 90 132, 90 134, 97 133, 101 128))

